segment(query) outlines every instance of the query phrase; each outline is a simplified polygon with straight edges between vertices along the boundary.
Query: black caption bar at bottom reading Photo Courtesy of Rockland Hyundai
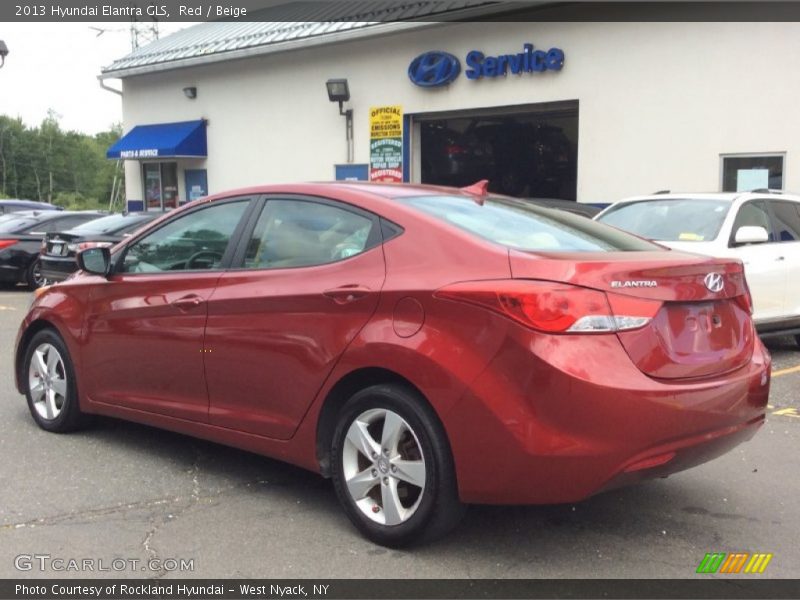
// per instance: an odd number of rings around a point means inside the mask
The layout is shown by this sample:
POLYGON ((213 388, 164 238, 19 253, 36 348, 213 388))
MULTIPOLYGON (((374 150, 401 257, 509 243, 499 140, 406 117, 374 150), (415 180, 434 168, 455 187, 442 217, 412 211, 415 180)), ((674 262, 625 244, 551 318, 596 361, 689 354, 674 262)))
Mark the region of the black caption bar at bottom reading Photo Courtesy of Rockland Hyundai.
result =
POLYGON ((602 598, 666 600, 789 599, 800 597, 798 579, 39 579, 0 580, 9 600, 160 599, 472 599, 602 598))

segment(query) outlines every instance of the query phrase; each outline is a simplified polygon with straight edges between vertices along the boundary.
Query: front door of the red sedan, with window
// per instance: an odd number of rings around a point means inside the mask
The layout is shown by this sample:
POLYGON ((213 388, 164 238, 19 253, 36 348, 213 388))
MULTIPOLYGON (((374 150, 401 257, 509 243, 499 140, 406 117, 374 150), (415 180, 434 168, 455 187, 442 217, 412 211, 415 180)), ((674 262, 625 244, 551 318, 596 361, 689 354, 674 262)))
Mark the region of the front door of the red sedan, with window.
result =
POLYGON ((92 292, 83 372, 92 401, 208 420, 207 302, 251 200, 201 205, 145 233, 92 292))

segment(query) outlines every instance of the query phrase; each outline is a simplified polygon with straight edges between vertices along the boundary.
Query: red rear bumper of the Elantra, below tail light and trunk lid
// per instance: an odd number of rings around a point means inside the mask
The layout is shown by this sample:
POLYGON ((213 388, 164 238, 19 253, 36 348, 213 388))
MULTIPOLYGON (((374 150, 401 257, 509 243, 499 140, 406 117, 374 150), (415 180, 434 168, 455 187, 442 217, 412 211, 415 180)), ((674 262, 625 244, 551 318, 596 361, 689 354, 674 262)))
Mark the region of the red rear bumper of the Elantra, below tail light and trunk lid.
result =
POLYGON ((711 460, 764 421, 760 342, 733 373, 675 382, 615 336, 516 335, 443 418, 465 502, 579 501, 711 460))

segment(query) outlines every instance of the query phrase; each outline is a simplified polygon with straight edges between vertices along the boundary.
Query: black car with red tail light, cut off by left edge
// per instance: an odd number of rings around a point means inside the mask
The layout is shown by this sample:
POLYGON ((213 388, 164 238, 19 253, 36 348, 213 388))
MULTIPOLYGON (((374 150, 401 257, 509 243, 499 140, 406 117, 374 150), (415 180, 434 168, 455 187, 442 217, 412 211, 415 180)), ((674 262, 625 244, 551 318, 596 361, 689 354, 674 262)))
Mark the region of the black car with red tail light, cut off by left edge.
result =
POLYGON ((33 210, 0 217, 0 283, 42 285, 39 252, 49 231, 72 229, 104 216, 97 211, 33 210))

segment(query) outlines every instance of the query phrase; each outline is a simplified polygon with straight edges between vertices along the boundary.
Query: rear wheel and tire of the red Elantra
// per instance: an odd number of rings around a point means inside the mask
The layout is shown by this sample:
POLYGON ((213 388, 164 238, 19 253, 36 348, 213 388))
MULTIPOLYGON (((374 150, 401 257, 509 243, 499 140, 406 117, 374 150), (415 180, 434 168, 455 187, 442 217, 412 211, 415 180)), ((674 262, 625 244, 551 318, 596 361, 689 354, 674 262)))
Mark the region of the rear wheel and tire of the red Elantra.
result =
POLYGON ((444 429, 425 399, 407 387, 375 385, 345 403, 331 465, 347 516, 376 544, 431 541, 466 510, 444 429), (391 429, 383 436, 387 422, 391 429))

